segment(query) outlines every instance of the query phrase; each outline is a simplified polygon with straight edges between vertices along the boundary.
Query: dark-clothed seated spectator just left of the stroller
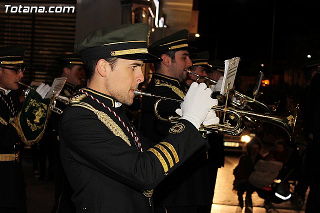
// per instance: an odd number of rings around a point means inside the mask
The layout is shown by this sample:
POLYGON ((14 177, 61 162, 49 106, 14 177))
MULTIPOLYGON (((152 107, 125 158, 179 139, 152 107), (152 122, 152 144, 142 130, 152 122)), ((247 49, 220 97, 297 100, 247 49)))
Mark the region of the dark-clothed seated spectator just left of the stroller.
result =
POLYGON ((254 164, 262 158, 260 154, 261 147, 261 140, 258 137, 253 137, 251 141, 246 144, 247 153, 240 156, 239 163, 233 170, 233 190, 237 191, 241 208, 243 208, 244 192, 246 192, 245 207, 252 208, 251 194, 255 191, 255 187, 249 183, 248 178, 253 171, 254 164))

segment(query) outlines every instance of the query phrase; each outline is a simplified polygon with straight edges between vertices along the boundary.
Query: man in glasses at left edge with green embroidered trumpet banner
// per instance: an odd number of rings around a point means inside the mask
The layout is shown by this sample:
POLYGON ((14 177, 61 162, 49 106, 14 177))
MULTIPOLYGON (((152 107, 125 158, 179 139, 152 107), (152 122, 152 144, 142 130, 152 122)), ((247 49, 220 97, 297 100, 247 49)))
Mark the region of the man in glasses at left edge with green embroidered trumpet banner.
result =
POLYGON ((49 101, 42 98, 50 86, 44 83, 29 91, 21 109, 16 90, 23 77, 25 50, 0 47, 0 212, 27 212, 19 149, 38 142, 48 116, 49 101))

